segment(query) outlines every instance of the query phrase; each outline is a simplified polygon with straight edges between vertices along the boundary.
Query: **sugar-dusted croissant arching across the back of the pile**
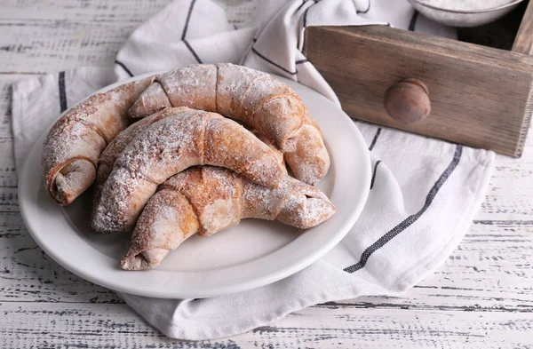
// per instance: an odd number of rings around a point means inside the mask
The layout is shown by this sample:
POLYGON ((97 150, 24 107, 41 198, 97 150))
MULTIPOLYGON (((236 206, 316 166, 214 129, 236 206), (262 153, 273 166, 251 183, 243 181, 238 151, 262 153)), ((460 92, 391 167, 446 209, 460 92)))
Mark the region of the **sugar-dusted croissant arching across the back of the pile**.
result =
POLYGON ((133 118, 164 107, 192 107, 235 118, 282 149, 296 178, 315 184, 330 168, 322 133, 289 86, 233 64, 199 64, 158 75, 130 109, 133 118))

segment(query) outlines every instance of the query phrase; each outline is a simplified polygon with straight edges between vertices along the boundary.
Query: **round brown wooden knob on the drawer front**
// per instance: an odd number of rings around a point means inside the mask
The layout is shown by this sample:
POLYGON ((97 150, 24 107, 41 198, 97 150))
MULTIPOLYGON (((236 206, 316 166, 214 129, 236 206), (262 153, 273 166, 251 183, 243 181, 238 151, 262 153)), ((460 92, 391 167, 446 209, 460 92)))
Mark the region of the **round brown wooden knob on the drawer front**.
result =
POLYGON ((387 114, 398 123, 418 123, 431 112, 429 90, 418 79, 403 79, 385 92, 387 114))

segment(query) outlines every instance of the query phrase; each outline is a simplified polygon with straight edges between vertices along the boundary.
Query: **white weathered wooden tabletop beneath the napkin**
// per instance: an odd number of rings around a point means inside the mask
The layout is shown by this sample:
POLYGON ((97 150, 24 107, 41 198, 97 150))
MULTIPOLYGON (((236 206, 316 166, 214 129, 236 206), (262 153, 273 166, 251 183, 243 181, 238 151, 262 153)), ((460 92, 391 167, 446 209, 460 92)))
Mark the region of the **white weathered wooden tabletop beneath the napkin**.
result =
MULTIPOLYGON (((48 258, 20 218, 10 83, 112 64, 131 31, 167 2, 0 2, 0 348, 533 348, 533 134, 521 159, 497 157, 464 241, 404 297, 315 305, 240 336, 179 342, 48 258)), ((253 5, 227 4, 236 21, 253 5)))

